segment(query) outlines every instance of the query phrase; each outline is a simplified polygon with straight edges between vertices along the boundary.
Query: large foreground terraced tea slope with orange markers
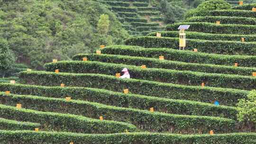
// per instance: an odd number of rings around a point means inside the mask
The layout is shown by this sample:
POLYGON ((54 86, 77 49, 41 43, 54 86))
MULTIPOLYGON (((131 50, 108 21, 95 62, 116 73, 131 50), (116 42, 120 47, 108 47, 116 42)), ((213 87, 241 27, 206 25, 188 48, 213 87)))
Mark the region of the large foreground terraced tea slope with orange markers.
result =
POLYGON ((256 89, 253 7, 214 10, 168 25, 162 37, 20 72, 19 83, 0 83, 0 142, 256 144, 237 120, 238 99, 256 89), (191 25, 185 50, 179 25, 191 25), (131 79, 119 78, 123 68, 131 79))

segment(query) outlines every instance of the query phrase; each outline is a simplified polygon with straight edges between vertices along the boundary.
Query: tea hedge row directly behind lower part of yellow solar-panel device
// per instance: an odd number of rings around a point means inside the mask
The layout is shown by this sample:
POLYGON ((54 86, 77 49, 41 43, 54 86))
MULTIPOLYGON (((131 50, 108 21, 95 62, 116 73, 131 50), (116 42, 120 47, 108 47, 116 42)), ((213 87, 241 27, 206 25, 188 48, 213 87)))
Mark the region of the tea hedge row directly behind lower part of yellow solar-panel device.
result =
MULTIPOLYGON (((160 47, 179 49, 179 38, 174 37, 155 37, 155 36, 138 36, 132 37, 125 41, 126 45, 137 45, 143 47, 160 47)), ((187 39, 186 50, 197 48, 202 53, 214 54, 256 54, 256 43, 254 42, 237 42, 237 41, 212 41, 200 39, 187 39)))

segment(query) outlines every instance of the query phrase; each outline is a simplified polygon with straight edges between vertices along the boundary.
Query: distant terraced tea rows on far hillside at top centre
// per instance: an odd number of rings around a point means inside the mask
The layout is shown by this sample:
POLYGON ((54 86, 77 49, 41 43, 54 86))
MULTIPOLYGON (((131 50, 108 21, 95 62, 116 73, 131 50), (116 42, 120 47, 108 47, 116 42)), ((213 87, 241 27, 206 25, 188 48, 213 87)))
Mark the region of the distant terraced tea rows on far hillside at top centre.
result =
POLYGON ((163 17, 150 0, 97 0, 112 10, 130 35, 145 36, 163 30, 163 17))

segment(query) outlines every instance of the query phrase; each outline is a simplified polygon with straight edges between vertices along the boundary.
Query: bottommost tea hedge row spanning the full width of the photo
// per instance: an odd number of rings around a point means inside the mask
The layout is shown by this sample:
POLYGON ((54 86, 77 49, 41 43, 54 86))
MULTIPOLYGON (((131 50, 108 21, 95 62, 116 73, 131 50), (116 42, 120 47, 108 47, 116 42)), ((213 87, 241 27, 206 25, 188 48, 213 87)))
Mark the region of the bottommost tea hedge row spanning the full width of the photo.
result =
POLYGON ((174 135, 159 133, 74 134, 60 132, 4 131, 0 141, 12 144, 255 144, 255 133, 174 135))

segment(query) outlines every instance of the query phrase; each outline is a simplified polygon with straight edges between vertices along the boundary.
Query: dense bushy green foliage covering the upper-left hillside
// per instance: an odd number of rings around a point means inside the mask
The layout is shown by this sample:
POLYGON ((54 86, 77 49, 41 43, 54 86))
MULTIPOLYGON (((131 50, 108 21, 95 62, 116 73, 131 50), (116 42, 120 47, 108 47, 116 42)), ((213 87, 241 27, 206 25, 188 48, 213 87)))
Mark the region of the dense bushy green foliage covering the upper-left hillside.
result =
POLYGON ((69 59, 99 45, 120 44, 128 33, 107 8, 88 0, 0 0, 0 37, 8 40, 18 63, 40 69, 52 59, 69 59), (109 31, 97 31, 101 14, 109 31))

